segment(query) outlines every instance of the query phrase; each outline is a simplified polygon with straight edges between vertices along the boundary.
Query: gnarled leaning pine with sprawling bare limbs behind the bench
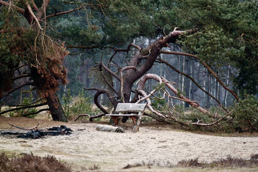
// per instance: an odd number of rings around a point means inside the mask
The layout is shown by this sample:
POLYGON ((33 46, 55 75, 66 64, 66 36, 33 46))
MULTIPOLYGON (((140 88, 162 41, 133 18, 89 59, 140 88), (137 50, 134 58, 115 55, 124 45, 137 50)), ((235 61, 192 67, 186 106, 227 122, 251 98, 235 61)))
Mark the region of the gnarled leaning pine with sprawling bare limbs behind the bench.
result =
MULTIPOLYGON (((109 63, 105 65, 103 61, 99 62, 97 66, 93 70, 98 70, 101 74, 101 77, 103 79, 103 82, 106 84, 106 88, 101 89, 101 88, 85 88, 87 90, 96 90, 97 92, 94 95, 94 103, 96 106, 103 112, 101 115, 96 115, 96 116, 90 116, 90 119, 92 120, 95 117, 100 117, 104 114, 108 114, 107 110, 99 103, 98 97, 101 94, 106 94, 109 101, 112 103, 114 109, 116 108, 117 103, 141 103, 143 101, 147 102, 147 108, 150 110, 152 115, 148 115, 153 117, 154 119, 160 120, 160 121, 174 121, 182 125, 201 125, 201 126, 210 126, 217 124, 221 120, 225 119, 230 113, 222 106, 222 104, 217 100, 219 103, 219 107, 221 107, 224 110, 224 115, 220 116, 218 115, 218 112, 216 114, 211 114, 209 111, 204 109, 203 107, 200 106, 200 104, 195 101, 191 100, 183 94, 180 93, 173 85, 176 85, 176 83, 172 83, 168 80, 166 80, 163 77, 160 77, 155 74, 147 74, 147 72, 150 70, 151 67, 153 67, 154 62, 161 61, 164 62, 165 64, 169 65, 166 61, 158 58, 160 54, 166 53, 166 54, 175 54, 175 53, 168 53, 162 50, 162 48, 165 47, 170 47, 170 43, 175 43, 175 41, 178 39, 179 35, 183 35, 185 33, 191 34, 196 32, 198 29, 189 29, 189 30, 177 30, 177 28, 174 28, 172 32, 170 32, 168 35, 156 40, 153 42, 151 45, 148 47, 142 48, 138 45, 135 44, 129 44, 127 49, 115 49, 112 48, 115 52, 113 56, 110 58, 109 63), (128 53, 130 51, 130 48, 134 47, 137 51, 134 52, 134 56, 131 57, 131 59, 127 62, 127 65, 124 67, 118 66, 115 64, 114 57, 117 52, 124 52, 128 53), (111 66, 115 66, 116 72, 112 70, 111 66), (155 89, 149 91, 146 89, 145 84, 146 81, 149 79, 153 79, 158 82, 158 86, 156 86, 155 89), (114 80, 117 80, 120 83, 119 90, 115 89, 114 87, 114 80), (137 81, 138 80, 138 81, 137 81), (137 82, 137 83, 136 83, 137 82), (133 90, 133 85, 138 84, 138 87, 136 90, 133 90), (157 97, 155 96, 156 91, 162 91, 163 92, 163 97, 157 97), (173 92, 173 96, 170 94, 170 91, 173 92), (134 97, 130 100, 131 93, 134 93, 134 97), (152 104, 150 97, 155 97, 157 99, 165 99, 168 100, 167 106, 168 110, 160 112, 159 110, 155 109, 152 104), (178 117, 173 115, 173 101, 172 99, 178 99, 181 101, 184 101, 194 107, 195 109, 199 110, 201 113, 208 115, 212 118, 214 118, 214 122, 211 123, 202 123, 201 119, 197 122, 184 122, 181 121, 178 117), (164 120, 163 120, 164 119, 164 120)), ((201 61, 200 58, 198 58, 195 55, 188 55, 189 57, 194 57, 200 60, 200 63, 203 64, 205 68, 208 69, 208 71, 217 79, 219 80, 218 76, 216 75, 215 72, 212 71, 212 69, 203 61, 201 61)), ((173 69, 173 68, 172 68, 173 69)), ((176 71, 180 72, 180 71, 176 71)), ((182 72, 181 72, 182 73, 182 72)), ((191 78, 192 81, 194 81, 195 84, 197 82, 191 78)), ((222 84, 223 87, 226 88, 235 98, 238 100, 239 98, 237 95, 231 91, 221 80, 219 80, 220 83, 222 84)), ((198 85, 198 84, 197 84, 198 85)), ((199 85, 198 85, 199 86, 199 85)), ((200 86, 199 86, 200 87, 200 86)), ((202 89, 203 90, 203 89, 202 89)), ((206 94, 211 96, 207 91, 204 91, 206 94)), ((214 98, 214 97, 212 97, 214 98)), ((147 115, 147 114, 145 114, 147 115)), ((127 120, 127 117, 123 118, 123 122, 127 120)))

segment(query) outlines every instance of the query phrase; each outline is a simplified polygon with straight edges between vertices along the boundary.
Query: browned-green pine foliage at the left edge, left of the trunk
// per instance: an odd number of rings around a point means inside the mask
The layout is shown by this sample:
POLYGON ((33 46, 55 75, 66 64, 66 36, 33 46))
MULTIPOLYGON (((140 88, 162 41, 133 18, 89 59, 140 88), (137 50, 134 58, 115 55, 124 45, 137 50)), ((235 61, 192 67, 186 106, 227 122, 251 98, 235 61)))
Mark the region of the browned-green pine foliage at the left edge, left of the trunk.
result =
POLYGON ((0 12, 0 95, 11 89, 14 68, 26 57, 26 44, 33 35, 31 29, 25 28, 26 32, 19 28, 21 17, 16 12, 8 13, 3 8, 0 12))

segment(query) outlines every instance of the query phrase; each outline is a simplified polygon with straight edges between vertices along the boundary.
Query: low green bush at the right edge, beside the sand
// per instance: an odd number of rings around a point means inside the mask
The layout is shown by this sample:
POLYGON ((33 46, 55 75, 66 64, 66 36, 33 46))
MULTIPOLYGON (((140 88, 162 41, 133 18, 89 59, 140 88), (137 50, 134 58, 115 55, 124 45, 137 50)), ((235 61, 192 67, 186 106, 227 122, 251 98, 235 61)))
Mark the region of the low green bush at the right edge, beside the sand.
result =
POLYGON ((258 98, 246 94, 235 104, 231 117, 236 131, 258 131, 258 98))

